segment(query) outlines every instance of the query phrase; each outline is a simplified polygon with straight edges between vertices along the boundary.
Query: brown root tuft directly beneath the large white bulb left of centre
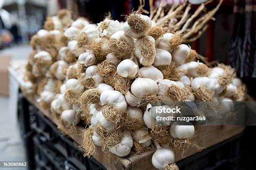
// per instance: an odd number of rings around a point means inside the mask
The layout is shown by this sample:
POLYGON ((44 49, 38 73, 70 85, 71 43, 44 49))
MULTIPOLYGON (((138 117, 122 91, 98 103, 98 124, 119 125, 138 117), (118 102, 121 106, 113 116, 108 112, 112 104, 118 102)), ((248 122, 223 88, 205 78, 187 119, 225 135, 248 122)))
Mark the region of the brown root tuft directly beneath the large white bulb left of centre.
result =
POLYGON ((109 121, 114 122, 115 124, 120 123, 120 113, 117 108, 113 105, 107 104, 102 107, 102 115, 109 121))

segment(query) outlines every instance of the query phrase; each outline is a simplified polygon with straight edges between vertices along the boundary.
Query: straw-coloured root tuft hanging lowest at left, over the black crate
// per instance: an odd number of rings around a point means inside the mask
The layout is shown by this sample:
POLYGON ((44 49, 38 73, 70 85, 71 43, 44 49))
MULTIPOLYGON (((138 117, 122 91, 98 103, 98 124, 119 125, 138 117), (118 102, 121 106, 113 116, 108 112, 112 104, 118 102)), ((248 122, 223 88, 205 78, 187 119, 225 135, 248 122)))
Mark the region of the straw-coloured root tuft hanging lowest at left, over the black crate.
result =
POLYGON ((95 151, 95 145, 93 144, 92 135, 94 130, 90 127, 84 130, 84 139, 83 139, 83 149, 84 149, 84 157, 92 155, 95 151))

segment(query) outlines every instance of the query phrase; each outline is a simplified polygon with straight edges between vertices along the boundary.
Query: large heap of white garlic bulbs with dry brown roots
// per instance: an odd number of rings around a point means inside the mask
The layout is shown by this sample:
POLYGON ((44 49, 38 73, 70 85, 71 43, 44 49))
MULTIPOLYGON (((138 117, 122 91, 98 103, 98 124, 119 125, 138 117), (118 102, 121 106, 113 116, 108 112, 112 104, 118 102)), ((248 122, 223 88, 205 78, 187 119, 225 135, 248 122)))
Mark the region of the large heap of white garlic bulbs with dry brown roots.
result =
POLYGON ((123 24, 106 18, 97 25, 70 16, 65 10, 48 18, 47 30, 32 37, 22 90, 37 93, 67 134, 76 133, 79 122, 90 125, 84 132, 87 156, 95 146, 120 157, 131 150, 139 154, 154 140, 153 165, 175 168, 168 145, 184 151, 195 128, 178 122, 156 125, 159 113, 151 103, 162 101, 167 108, 174 101, 243 100, 245 87, 231 67, 210 68, 197 61, 180 35, 164 33, 146 15, 134 12, 123 24))

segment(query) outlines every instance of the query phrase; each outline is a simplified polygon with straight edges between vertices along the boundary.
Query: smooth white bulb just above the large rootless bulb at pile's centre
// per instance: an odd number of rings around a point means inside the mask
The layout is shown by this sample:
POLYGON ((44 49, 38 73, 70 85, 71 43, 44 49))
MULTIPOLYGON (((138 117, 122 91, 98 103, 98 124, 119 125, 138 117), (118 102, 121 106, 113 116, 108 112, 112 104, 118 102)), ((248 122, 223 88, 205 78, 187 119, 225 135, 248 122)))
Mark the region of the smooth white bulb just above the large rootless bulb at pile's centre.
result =
POLYGON ((140 73, 143 78, 150 78, 156 82, 160 82, 164 79, 163 73, 153 65, 141 67, 140 73))

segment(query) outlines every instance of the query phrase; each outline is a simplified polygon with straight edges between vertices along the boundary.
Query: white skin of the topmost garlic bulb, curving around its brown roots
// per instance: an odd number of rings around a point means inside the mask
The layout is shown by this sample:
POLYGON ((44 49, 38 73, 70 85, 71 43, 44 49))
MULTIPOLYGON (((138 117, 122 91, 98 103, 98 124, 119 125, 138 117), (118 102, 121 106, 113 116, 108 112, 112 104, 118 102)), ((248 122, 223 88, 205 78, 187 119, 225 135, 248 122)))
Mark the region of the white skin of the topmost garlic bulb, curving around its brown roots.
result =
POLYGON ((126 21, 125 23, 123 23, 123 32, 125 32, 126 35, 130 36, 130 37, 133 37, 133 38, 139 38, 143 35, 146 35, 146 32, 148 30, 150 30, 151 28, 151 19, 146 16, 146 15, 141 15, 141 14, 136 14, 136 15, 139 15, 139 17, 143 20, 146 21, 147 25, 146 25, 146 31, 145 32, 140 32, 138 34, 136 34, 135 32, 133 32, 133 30, 131 29, 131 27, 128 25, 128 22, 126 21))

